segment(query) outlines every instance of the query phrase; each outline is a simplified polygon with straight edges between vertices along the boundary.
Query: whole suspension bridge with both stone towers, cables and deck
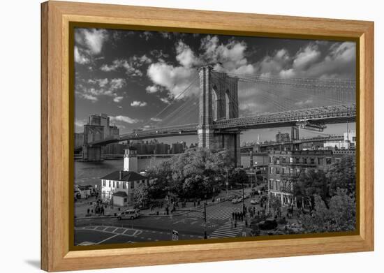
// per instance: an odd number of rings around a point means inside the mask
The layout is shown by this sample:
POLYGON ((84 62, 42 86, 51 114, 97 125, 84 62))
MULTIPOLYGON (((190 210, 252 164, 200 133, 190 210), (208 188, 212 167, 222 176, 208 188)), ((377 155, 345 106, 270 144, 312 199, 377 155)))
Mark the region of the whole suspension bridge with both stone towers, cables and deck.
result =
POLYGON ((199 68, 198 75, 161 112, 131 133, 103 138, 84 130, 84 160, 101 158, 101 147, 124 140, 197 135, 199 147, 226 148, 239 163, 242 131, 292 127, 323 131, 327 124, 356 119, 355 80, 281 78, 199 68))

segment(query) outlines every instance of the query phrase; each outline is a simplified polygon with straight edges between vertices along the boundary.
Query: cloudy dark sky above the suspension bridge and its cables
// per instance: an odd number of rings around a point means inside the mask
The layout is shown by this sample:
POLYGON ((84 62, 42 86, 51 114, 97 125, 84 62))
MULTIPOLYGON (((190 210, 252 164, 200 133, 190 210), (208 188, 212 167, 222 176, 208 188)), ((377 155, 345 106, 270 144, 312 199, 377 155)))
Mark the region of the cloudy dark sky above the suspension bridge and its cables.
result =
MULTIPOLYGON (((75 29, 74 54, 77 132, 88 115, 101 112, 121 133, 156 122, 205 64, 241 75, 355 79, 355 43, 349 42, 75 29)), ((345 131, 330 127, 327 133, 345 131)), ((264 139, 276 130, 269 131, 264 139)))

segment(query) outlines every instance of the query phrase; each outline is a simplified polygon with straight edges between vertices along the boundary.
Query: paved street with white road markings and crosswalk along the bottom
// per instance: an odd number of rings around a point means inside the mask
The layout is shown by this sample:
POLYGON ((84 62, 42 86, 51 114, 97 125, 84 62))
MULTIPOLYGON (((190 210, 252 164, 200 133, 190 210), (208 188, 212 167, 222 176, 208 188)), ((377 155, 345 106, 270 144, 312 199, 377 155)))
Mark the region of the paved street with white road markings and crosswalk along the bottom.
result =
MULTIPOLYGON (((244 201, 246 206, 249 199, 244 201)), ((244 221, 231 223, 232 213, 240 212, 242 202, 230 201, 207 206, 207 235, 212 238, 238 237, 242 235, 244 221)), ((117 220, 109 218, 85 218, 75 221, 75 244, 116 244, 133 242, 157 242, 172 239, 177 230, 179 240, 202 239, 205 233, 204 208, 176 211, 173 216, 143 216, 138 219, 117 220)))

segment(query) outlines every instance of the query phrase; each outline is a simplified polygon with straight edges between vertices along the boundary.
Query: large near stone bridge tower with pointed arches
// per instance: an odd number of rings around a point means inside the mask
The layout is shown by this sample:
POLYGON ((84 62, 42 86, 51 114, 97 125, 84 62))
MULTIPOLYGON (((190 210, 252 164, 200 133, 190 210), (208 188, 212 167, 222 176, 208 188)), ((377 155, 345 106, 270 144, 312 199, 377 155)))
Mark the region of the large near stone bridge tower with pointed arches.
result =
POLYGON ((214 128, 217 120, 239 117, 238 79, 226 73, 213 71, 211 66, 200 67, 199 76, 199 147, 226 148, 234 159, 235 166, 238 166, 240 165, 239 131, 217 131, 214 128))

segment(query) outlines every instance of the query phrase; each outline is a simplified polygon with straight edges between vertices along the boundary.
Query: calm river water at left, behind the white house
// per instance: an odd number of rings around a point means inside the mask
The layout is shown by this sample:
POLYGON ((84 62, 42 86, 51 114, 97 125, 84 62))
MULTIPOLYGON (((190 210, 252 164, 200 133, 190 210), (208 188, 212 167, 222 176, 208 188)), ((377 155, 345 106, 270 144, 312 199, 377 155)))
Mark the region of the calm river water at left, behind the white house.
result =
POLYGON ((78 185, 97 185, 100 189, 101 177, 123 170, 124 161, 121 159, 105 160, 102 162, 82 162, 75 161, 75 184, 78 185))

